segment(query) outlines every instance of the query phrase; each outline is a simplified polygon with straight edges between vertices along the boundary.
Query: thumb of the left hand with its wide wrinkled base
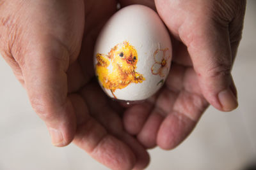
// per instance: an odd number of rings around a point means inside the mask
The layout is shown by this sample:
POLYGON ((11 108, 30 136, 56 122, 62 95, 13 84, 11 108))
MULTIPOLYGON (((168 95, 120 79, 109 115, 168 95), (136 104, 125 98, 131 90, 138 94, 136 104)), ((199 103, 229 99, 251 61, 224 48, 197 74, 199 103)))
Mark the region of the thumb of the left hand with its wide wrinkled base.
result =
POLYGON ((76 116, 68 99, 66 72, 80 51, 83 3, 3 1, 0 7, 0 50, 19 72, 52 143, 68 145, 76 132, 76 116))

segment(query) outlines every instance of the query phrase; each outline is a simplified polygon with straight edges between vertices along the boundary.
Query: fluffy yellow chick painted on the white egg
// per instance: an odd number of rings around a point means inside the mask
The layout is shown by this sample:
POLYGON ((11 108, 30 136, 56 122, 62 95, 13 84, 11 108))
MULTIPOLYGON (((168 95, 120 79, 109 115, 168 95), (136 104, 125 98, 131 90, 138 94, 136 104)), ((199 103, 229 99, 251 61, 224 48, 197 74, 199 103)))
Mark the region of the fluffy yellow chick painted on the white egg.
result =
POLYGON ((142 74, 137 73, 138 54, 127 41, 119 43, 108 55, 97 53, 96 74, 105 89, 111 90, 113 97, 116 89, 124 89, 130 83, 142 83, 142 74))

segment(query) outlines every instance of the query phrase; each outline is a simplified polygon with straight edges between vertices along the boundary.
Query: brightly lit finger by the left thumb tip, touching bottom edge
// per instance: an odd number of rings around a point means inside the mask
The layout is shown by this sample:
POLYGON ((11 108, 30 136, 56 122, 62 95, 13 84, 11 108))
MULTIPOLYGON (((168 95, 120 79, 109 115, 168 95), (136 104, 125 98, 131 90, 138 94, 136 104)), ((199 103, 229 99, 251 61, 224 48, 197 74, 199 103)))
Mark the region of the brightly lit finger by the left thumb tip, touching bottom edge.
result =
POLYGON ((132 169, 135 156, 122 141, 108 134, 94 118, 77 128, 74 143, 89 153, 93 159, 105 166, 116 169, 132 169))

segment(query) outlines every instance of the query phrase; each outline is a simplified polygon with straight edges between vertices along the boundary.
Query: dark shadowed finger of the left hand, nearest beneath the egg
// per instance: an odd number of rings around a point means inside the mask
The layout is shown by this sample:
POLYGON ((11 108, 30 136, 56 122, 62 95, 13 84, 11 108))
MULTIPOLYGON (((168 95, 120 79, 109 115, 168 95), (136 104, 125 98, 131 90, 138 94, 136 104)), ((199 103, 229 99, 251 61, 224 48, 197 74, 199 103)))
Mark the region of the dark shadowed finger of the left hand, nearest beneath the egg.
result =
POLYGON ((149 162, 148 153, 138 141, 124 131, 119 114, 111 109, 106 95, 96 83, 97 82, 93 81, 86 85, 82 92, 82 96, 89 106, 92 117, 105 127, 109 134, 112 134, 115 138, 122 141, 124 145, 129 146, 130 152, 132 151, 135 157, 133 164, 134 169, 146 167, 149 162), (97 103, 95 103, 95 101, 97 101, 97 103))

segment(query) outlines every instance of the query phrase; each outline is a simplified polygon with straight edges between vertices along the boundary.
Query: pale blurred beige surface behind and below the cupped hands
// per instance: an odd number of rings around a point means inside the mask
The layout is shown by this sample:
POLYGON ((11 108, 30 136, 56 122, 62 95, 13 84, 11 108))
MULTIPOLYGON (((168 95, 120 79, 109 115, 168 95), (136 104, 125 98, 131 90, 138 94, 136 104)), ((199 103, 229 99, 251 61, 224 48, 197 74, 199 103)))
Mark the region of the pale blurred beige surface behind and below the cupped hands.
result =
MULTIPOLYGON (((232 74, 239 108, 210 107, 195 131, 171 151, 150 150, 153 169, 256 169, 256 1, 248 0, 243 39, 232 74)), ((56 148, 26 91, 0 57, 0 170, 106 170, 75 145, 56 148)))

